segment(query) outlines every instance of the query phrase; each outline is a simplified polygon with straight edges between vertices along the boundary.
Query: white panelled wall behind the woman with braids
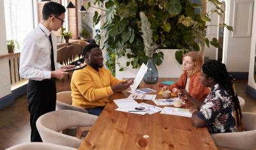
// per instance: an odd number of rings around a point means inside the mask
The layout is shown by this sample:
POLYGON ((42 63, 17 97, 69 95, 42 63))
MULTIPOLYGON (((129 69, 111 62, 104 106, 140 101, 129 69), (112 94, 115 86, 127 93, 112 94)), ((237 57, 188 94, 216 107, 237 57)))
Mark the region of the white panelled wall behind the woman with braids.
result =
POLYGON ((225 0, 225 23, 234 31, 224 29, 223 63, 228 71, 248 72, 251 50, 253 0, 225 0))

